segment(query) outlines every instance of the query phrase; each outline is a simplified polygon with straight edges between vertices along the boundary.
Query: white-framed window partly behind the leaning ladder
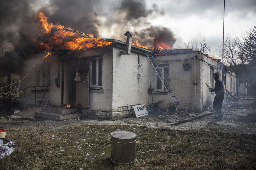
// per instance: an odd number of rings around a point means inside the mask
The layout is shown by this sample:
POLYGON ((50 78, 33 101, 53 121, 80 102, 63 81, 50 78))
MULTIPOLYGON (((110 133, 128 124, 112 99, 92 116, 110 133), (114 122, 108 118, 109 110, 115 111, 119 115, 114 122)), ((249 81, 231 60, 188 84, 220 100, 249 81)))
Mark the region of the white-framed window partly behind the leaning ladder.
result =
POLYGON ((164 88, 164 85, 165 87, 167 88, 167 90, 169 90, 169 67, 159 67, 159 69, 156 70, 158 75, 160 76, 160 78, 157 76, 156 72, 155 72, 155 91, 164 91, 166 90, 164 88), (161 74, 162 72, 162 74, 161 74), (165 78, 165 80, 167 81, 164 81, 163 78, 165 78), (164 85, 162 84, 162 81, 164 81, 164 85))

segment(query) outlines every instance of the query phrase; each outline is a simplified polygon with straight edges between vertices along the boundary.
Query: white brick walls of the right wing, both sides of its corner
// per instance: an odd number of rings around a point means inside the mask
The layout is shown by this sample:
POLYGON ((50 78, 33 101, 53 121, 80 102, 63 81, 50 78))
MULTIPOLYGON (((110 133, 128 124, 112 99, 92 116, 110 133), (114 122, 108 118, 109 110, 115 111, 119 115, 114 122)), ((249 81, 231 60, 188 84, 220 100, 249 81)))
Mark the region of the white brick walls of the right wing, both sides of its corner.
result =
MULTIPOLYGON (((209 108, 212 107, 212 101, 215 94, 209 92, 205 83, 211 85, 211 67, 214 68, 213 73, 219 72, 220 75, 222 75, 222 66, 219 62, 216 62, 198 52, 191 54, 161 56, 156 57, 155 60, 158 64, 169 64, 169 84, 174 91, 174 94, 177 97, 178 101, 180 102, 182 108, 192 111, 196 111, 197 109, 197 112, 202 112, 206 109, 207 106, 209 106, 209 108), (194 55, 196 55, 196 88, 193 84, 194 55), (183 70, 183 61, 189 63, 190 68, 188 71, 183 70), (197 91, 197 97, 195 97, 195 91, 197 91), (197 108, 195 108, 195 98, 197 98, 197 108)), ((151 75, 152 74, 153 73, 151 72, 151 75)), ((235 74, 227 74, 227 77, 227 82, 230 82, 230 77, 232 77, 232 89, 234 89, 232 91, 235 92, 235 74)), ((154 80, 151 81, 154 82, 154 80)), ((151 82, 151 84, 154 85, 153 82, 151 82)), ((230 83, 229 85, 227 84, 227 86, 230 86, 230 83)), ((153 94, 153 100, 154 103, 158 101, 161 108, 164 109, 166 109, 167 103, 172 103, 172 100, 170 99, 168 94, 153 94)))

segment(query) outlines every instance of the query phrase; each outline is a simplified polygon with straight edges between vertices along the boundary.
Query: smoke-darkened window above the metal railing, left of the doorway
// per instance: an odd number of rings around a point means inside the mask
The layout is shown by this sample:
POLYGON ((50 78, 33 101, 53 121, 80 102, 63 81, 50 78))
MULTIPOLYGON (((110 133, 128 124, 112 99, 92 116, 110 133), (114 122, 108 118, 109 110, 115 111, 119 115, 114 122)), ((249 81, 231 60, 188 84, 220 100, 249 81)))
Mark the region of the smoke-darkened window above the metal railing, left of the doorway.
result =
POLYGON ((36 86, 50 87, 50 65, 41 65, 36 71, 36 86))

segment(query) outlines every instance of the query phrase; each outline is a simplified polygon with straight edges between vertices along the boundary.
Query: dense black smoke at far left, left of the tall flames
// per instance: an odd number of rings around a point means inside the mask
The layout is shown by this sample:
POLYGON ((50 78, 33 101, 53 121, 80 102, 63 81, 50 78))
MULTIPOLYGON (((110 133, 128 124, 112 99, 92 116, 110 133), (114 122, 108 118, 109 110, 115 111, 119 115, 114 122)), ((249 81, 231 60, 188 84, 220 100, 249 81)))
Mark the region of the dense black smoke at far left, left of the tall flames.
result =
POLYGON ((23 62, 40 49, 36 37, 40 27, 34 20, 34 0, 0 1, 1 73, 18 73, 23 62), (7 46, 6 46, 7 45, 7 46), (1 52, 5 49, 1 49, 1 52))

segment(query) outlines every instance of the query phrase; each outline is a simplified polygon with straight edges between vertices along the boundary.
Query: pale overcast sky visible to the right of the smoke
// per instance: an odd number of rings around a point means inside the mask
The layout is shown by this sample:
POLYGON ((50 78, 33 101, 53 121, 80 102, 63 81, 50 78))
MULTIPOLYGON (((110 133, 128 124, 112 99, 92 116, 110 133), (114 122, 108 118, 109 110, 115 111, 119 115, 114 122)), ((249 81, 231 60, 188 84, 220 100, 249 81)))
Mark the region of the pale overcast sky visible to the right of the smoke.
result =
MULTIPOLYGON (((170 28, 176 42, 173 48, 184 48, 184 43, 205 40, 211 55, 218 58, 223 40, 224 0, 146 0, 146 8, 156 4, 164 14, 153 13, 148 25, 170 28)), ((256 26, 256 0, 225 0, 224 39, 239 36, 256 26), (233 7, 233 9, 232 9, 233 7)), ((129 30, 137 31, 138 28, 129 30)), ((103 32, 108 37, 109 32, 103 32)), ((135 34, 136 35, 136 34, 135 34)))

